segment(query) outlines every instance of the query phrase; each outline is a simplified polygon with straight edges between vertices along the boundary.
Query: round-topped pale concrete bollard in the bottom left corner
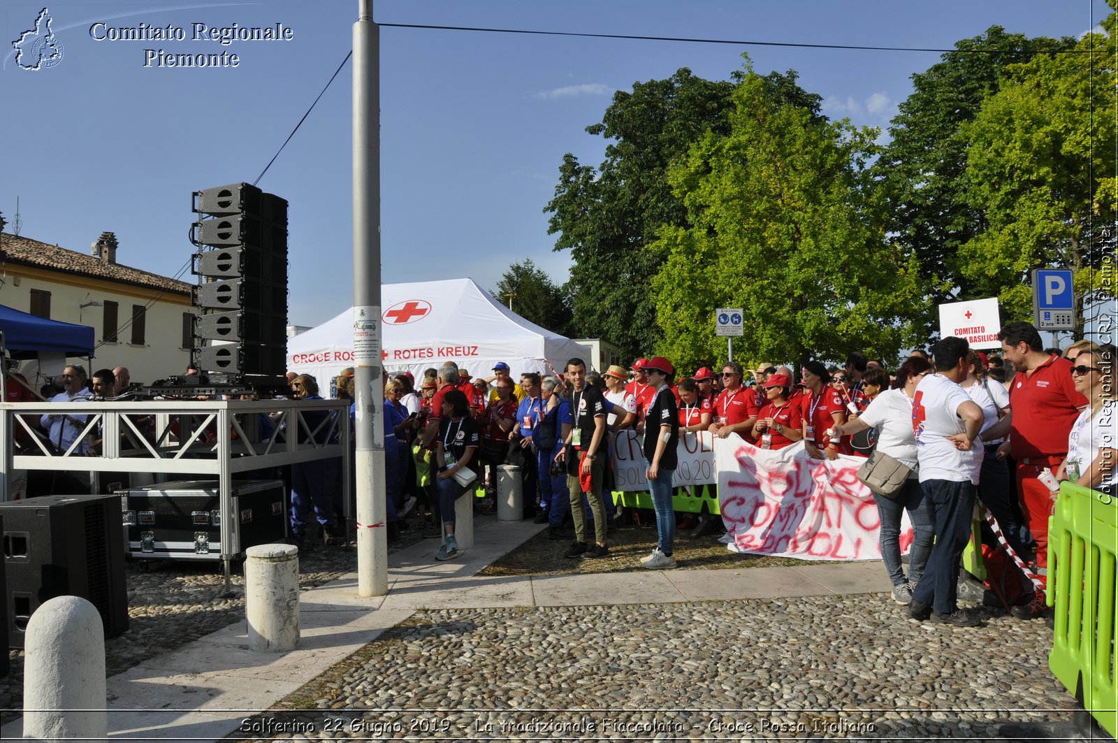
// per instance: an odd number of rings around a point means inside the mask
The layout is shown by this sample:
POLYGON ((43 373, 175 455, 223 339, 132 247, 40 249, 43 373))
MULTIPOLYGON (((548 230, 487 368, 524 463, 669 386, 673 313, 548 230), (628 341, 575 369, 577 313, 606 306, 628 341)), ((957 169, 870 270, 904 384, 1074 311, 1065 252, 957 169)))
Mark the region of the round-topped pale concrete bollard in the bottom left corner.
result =
POLYGON ((79 596, 45 602, 27 622, 23 653, 23 737, 106 740, 105 629, 97 609, 79 596))

